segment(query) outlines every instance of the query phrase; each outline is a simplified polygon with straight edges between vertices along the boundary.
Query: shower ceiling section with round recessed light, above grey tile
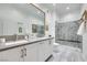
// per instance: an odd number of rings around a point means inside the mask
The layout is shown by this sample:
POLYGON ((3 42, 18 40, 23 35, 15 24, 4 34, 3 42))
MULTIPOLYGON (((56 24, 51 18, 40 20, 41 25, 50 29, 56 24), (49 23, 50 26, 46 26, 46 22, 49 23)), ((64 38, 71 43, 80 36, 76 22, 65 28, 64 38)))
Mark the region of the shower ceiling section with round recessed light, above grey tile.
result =
POLYGON ((81 3, 57 3, 56 4, 56 15, 62 18, 68 13, 78 13, 81 11, 81 3))

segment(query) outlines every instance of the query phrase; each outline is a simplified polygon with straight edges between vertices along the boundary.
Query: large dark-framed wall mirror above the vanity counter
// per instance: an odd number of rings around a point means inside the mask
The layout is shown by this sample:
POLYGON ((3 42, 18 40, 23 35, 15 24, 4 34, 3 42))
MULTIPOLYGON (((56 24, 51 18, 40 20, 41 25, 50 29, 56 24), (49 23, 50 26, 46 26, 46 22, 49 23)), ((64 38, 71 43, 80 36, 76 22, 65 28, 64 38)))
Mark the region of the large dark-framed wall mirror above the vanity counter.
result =
POLYGON ((0 36, 45 35, 45 13, 32 3, 0 4, 0 36))

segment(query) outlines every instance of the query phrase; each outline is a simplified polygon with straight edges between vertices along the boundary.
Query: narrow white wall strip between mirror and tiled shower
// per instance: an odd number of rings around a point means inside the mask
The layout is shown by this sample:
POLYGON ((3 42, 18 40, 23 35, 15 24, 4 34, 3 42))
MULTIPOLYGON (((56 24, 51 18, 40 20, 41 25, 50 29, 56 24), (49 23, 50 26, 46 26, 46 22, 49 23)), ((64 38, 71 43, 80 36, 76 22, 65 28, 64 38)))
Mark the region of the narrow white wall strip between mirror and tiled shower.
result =
POLYGON ((55 21, 56 21, 55 12, 46 12, 45 14, 46 14, 45 24, 48 25, 48 31, 46 31, 46 36, 48 35, 54 36, 54 42, 55 42, 55 21))

